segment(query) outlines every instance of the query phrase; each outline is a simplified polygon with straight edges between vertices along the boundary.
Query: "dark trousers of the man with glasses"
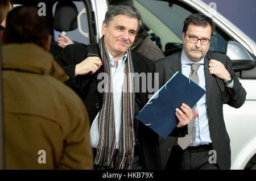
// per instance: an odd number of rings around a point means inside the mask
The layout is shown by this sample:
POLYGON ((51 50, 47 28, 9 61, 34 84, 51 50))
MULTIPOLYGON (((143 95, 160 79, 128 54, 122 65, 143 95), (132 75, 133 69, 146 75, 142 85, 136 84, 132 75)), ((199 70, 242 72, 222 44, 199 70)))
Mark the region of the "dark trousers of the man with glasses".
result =
POLYGON ((189 146, 185 150, 172 146, 166 170, 220 170, 217 163, 209 163, 212 149, 212 144, 189 146))

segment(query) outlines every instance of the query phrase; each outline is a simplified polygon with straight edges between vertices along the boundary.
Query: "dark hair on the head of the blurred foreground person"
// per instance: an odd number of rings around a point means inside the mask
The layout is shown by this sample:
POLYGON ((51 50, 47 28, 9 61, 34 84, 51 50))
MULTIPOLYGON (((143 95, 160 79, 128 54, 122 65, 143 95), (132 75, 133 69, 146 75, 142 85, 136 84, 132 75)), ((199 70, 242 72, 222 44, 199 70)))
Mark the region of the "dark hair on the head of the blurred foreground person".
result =
POLYGON ((6 18, 6 43, 34 43, 44 47, 51 30, 46 16, 38 15, 38 7, 15 7, 6 18))

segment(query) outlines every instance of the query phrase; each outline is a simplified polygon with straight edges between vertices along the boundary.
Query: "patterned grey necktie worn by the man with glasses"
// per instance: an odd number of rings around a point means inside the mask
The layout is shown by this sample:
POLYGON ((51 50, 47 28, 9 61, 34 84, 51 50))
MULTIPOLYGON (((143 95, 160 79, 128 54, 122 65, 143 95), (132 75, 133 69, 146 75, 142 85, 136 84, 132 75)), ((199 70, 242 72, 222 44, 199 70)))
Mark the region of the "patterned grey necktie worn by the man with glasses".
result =
MULTIPOLYGON (((189 79, 199 84, 199 77, 197 75, 197 70, 199 69, 200 64, 190 64, 191 65, 191 73, 189 74, 189 79)), ((192 132, 193 132, 193 124, 195 121, 195 112, 196 105, 192 108, 193 117, 190 123, 188 124, 188 134, 185 137, 179 137, 177 139, 177 144, 184 150, 191 144, 192 132)))

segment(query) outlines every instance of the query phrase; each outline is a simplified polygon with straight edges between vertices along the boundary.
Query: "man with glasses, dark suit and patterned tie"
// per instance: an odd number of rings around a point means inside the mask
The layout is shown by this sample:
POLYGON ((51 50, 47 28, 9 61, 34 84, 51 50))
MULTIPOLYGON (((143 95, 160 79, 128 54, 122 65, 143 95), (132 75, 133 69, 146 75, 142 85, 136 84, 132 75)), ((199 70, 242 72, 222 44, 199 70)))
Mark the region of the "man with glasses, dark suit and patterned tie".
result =
POLYGON ((184 21, 183 50, 156 62, 159 84, 176 73, 198 83, 207 93, 192 108, 193 118, 185 137, 168 137, 160 147, 168 160, 166 169, 230 169, 230 139, 226 132, 223 104, 239 108, 246 91, 236 78, 232 61, 224 54, 208 52, 213 36, 212 19, 191 14, 184 21))

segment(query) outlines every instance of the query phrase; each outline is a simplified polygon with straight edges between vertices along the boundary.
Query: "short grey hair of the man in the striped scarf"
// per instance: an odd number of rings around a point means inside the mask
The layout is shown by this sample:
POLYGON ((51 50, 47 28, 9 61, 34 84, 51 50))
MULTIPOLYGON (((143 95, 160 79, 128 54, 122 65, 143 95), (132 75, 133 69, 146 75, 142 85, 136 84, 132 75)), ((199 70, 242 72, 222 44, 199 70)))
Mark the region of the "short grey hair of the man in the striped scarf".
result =
POLYGON ((111 5, 105 14, 105 19, 103 23, 109 26, 109 23, 113 20, 114 16, 126 15, 129 18, 138 19, 138 29, 142 26, 141 13, 133 6, 130 5, 111 5))

